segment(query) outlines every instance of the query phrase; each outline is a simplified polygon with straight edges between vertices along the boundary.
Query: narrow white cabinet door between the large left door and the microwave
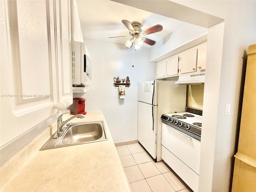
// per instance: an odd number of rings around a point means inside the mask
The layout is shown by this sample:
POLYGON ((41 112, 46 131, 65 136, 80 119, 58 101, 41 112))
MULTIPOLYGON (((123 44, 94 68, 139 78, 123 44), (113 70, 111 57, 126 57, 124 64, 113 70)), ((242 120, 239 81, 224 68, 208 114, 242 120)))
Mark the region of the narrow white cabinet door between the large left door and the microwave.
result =
POLYGON ((71 73, 71 27, 70 2, 57 0, 56 2, 56 37, 58 58, 58 102, 65 102, 66 107, 73 102, 72 73, 71 73), (58 17, 59 16, 59 17, 58 17))

